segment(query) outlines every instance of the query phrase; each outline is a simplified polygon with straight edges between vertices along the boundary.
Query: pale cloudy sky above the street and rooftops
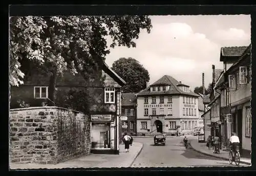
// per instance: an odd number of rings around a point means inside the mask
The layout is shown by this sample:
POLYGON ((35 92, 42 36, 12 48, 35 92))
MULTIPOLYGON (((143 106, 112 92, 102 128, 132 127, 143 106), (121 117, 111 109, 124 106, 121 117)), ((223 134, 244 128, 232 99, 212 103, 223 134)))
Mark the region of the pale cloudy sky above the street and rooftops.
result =
MULTIPOLYGON (((135 48, 110 48, 106 64, 132 57, 150 74, 149 84, 165 74, 190 86, 205 87, 212 81, 212 65, 223 69, 221 47, 250 44, 250 15, 164 15, 150 16, 153 28, 141 30, 135 48)), ((110 44, 110 38, 107 38, 110 44)))

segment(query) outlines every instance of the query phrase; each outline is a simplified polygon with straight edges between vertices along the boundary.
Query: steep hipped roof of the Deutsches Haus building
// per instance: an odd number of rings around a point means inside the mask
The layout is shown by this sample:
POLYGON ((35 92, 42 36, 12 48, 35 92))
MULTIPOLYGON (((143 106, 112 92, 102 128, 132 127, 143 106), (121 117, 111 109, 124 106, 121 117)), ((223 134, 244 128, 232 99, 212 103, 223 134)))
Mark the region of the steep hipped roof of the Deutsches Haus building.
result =
POLYGON ((194 93, 193 91, 189 90, 189 92, 184 92, 181 89, 177 87, 177 85, 180 84, 176 79, 174 79, 171 76, 164 75, 162 78, 157 80, 155 83, 153 83, 151 86, 155 85, 169 85, 169 89, 166 91, 150 91, 150 86, 148 86, 146 89, 140 91, 137 95, 162 95, 162 94, 184 94, 184 95, 192 95, 192 96, 199 96, 198 94, 194 93))

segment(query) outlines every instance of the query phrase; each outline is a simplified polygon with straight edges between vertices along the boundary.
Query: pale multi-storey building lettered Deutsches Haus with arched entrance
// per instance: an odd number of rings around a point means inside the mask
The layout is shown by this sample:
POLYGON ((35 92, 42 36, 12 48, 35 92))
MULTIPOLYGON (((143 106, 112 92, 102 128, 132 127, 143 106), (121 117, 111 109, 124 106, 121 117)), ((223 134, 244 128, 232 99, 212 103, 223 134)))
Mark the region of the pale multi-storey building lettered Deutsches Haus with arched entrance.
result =
POLYGON ((198 125, 199 95, 163 76, 137 94, 137 135, 192 134, 198 125))

